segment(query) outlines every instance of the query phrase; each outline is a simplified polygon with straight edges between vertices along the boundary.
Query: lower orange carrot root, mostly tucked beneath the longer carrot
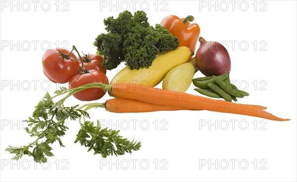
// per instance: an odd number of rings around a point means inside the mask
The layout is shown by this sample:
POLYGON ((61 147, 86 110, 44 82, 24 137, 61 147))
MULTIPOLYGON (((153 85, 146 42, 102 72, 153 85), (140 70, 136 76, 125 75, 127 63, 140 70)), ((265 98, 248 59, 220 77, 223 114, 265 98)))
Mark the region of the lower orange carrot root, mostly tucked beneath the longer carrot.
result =
POLYGON ((105 109, 109 112, 131 113, 131 112, 153 112, 153 111, 176 111, 176 110, 200 110, 182 106, 160 105, 142 102, 128 98, 112 98, 106 100, 105 109))

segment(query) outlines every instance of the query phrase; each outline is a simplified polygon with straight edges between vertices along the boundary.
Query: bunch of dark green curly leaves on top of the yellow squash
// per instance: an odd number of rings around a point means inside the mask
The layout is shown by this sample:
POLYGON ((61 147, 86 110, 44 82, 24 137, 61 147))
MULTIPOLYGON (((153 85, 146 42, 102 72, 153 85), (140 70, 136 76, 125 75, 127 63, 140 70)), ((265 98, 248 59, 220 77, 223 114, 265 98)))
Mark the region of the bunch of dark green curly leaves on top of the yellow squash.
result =
POLYGON ((130 69, 148 68, 159 53, 176 49, 179 42, 168 30, 159 24, 149 26, 147 14, 136 11, 119 13, 104 19, 107 34, 100 34, 94 43, 102 65, 111 70, 121 62, 130 69))

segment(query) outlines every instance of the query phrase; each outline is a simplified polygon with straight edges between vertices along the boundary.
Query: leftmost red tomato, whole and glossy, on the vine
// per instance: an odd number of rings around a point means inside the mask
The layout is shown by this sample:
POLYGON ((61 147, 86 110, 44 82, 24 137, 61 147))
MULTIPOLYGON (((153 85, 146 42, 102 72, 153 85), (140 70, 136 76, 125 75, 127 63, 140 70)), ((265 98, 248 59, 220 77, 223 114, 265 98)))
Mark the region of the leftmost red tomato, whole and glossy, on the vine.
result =
MULTIPOLYGON (((60 48, 58 50, 64 54, 69 54, 68 50, 60 48)), ((73 53, 70 56, 76 58, 73 53)), ((50 80, 64 84, 69 82, 71 77, 76 74, 79 69, 79 62, 71 58, 66 59, 64 62, 64 58, 56 49, 49 49, 42 56, 42 66, 50 80)))

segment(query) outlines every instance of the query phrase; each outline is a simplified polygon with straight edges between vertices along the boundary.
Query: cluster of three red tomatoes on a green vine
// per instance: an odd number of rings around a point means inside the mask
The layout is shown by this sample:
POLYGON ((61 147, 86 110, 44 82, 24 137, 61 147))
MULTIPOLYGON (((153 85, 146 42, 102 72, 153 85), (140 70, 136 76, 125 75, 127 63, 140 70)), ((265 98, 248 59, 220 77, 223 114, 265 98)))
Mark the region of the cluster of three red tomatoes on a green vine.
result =
MULTIPOLYGON (((77 51, 75 46, 73 50, 77 51)), ((101 56, 89 54, 79 57, 78 59, 72 51, 66 49, 49 49, 42 57, 43 72, 53 83, 69 82, 69 89, 90 83, 108 84, 106 69, 101 65, 101 56)), ((91 101, 101 98, 104 94, 103 90, 92 88, 79 91, 73 96, 82 101, 91 101)))

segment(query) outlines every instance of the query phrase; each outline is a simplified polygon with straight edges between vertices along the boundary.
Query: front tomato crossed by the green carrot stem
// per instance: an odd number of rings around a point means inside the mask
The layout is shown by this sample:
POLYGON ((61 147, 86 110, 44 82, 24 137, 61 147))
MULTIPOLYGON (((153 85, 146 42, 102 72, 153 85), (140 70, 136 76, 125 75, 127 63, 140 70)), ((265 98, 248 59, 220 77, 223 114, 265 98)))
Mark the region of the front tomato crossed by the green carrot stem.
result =
MULTIPOLYGON (((82 75, 74 75, 69 81, 69 89, 78 88, 82 85, 90 83, 102 83, 108 84, 106 75, 99 70, 89 70, 89 73, 82 75)), ((73 96, 82 101, 91 101, 101 98, 105 92, 99 88, 90 88, 83 91, 79 91, 73 96)))

